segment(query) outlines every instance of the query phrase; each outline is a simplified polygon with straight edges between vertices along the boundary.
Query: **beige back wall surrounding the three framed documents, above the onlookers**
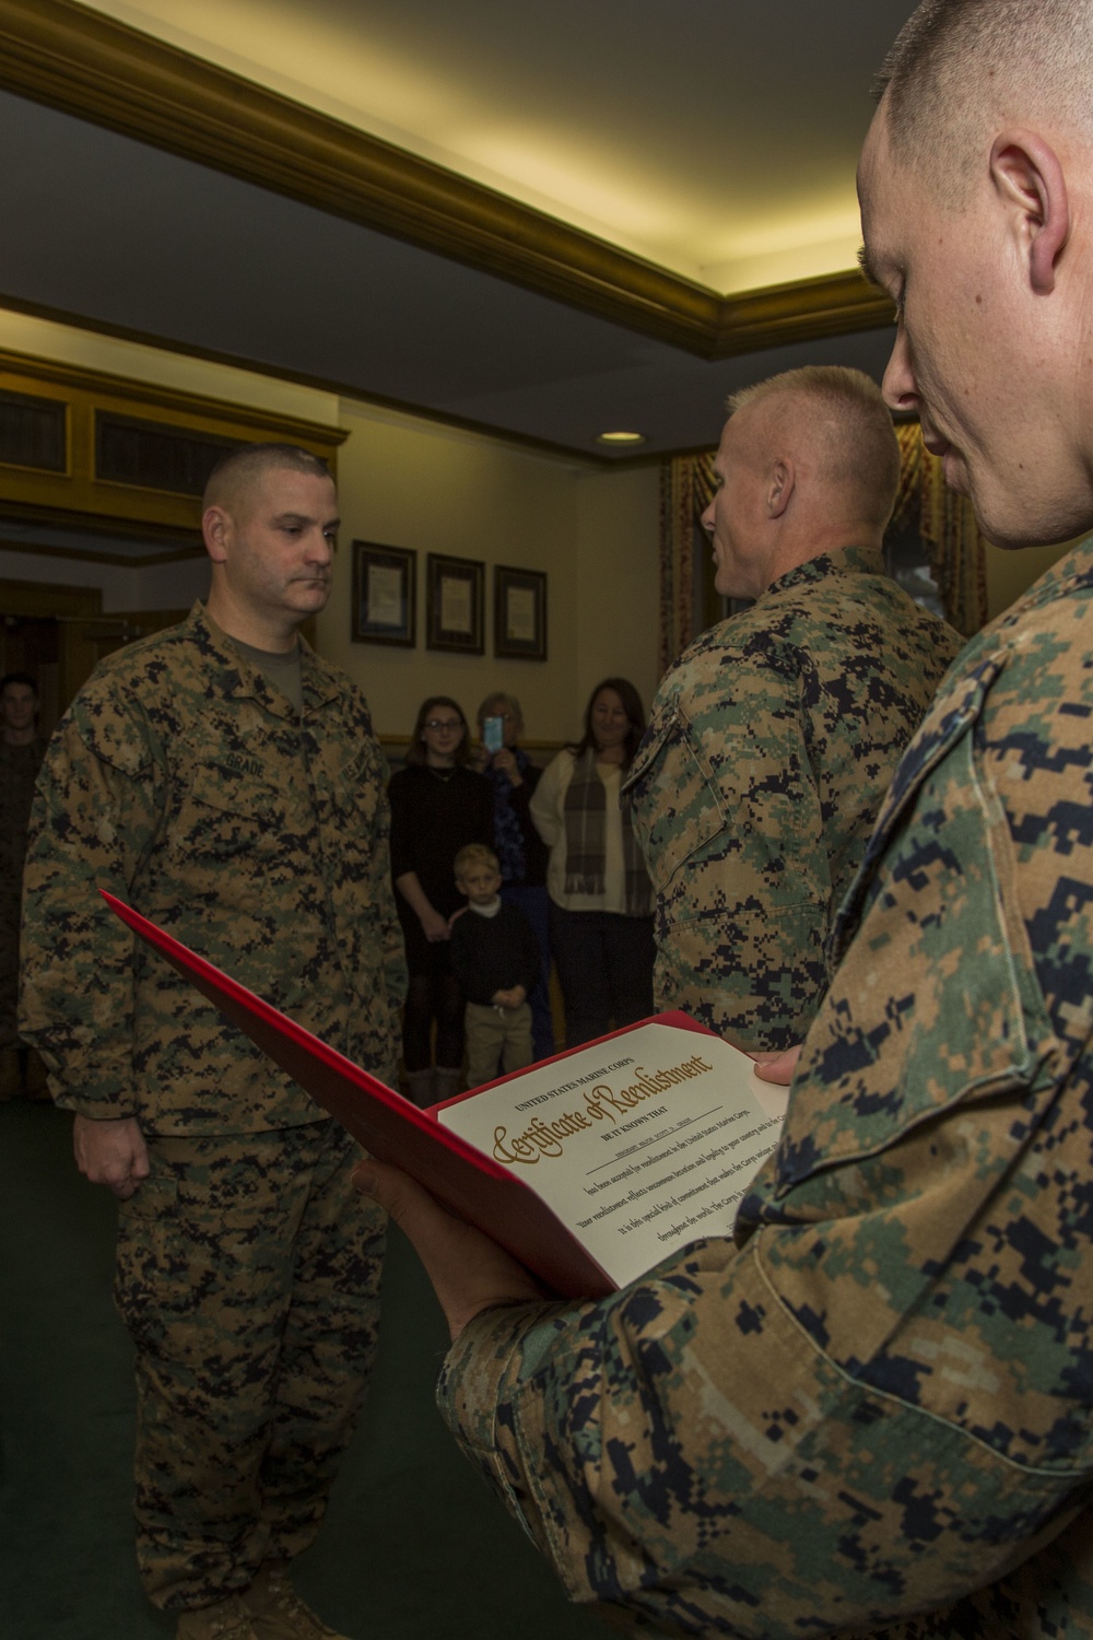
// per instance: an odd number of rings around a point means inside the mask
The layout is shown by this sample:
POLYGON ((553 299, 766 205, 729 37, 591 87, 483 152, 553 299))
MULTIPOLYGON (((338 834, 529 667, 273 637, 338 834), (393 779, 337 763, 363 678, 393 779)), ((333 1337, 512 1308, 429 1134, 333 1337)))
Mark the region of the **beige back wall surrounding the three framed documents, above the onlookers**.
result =
POLYGON ((320 648, 356 677, 383 735, 408 733, 428 694, 469 715, 493 689, 519 697, 533 740, 580 728, 585 699, 615 672, 646 705, 657 666, 657 469, 603 472, 498 440, 372 410, 341 407, 349 438, 338 456, 342 544, 320 648), (418 646, 352 643, 351 541, 418 553, 418 646), (487 564, 487 653, 424 648, 428 553, 487 564), (492 569, 547 572, 547 661, 492 659, 492 569))

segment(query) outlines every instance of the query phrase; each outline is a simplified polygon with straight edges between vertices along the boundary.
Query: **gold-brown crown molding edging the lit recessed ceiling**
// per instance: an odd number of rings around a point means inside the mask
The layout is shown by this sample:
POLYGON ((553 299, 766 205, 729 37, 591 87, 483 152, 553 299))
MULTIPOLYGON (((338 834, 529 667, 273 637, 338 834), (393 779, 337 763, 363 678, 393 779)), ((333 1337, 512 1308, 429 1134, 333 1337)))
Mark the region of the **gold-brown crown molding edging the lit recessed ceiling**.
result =
POLYGON ((795 285, 721 297, 74 0, 0 0, 0 87, 700 358, 891 321, 855 274, 800 310, 795 285))

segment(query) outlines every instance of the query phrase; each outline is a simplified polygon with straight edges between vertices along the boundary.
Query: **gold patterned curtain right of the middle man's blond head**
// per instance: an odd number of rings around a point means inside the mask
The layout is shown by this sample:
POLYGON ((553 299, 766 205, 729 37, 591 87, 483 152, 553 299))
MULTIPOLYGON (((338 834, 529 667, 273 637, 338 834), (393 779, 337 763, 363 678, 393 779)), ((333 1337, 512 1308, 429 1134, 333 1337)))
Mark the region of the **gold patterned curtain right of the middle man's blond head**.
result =
POLYGON ((929 541, 929 566, 946 620, 970 638, 986 622, 986 553, 972 503, 949 489, 942 464, 923 444, 918 421, 896 428, 900 494, 891 526, 918 525, 929 541))

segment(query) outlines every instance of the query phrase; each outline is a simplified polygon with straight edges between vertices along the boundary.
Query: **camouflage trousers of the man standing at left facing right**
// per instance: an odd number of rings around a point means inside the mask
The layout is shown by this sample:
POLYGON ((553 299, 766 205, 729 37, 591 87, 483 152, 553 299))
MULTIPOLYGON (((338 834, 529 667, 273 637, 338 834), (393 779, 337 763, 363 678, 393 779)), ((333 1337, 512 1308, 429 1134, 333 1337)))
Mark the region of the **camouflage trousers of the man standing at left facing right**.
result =
POLYGON ((136 1345, 136 1532, 156 1606, 205 1606, 315 1538, 375 1350, 383 1220, 336 1122, 149 1138, 118 1223, 136 1345))

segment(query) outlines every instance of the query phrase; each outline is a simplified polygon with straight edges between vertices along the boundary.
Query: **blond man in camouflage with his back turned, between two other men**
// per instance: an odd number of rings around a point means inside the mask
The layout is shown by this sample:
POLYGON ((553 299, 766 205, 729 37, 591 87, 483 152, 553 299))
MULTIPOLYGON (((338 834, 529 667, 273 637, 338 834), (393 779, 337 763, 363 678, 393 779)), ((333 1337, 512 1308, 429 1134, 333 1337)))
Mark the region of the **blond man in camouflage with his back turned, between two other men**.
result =
POLYGON ((669 669, 623 802, 655 889, 655 1007, 782 1050, 962 640, 885 572, 900 446, 869 376, 788 371, 729 410, 703 525, 716 590, 755 602, 669 669))

